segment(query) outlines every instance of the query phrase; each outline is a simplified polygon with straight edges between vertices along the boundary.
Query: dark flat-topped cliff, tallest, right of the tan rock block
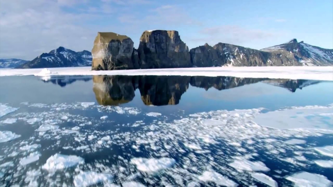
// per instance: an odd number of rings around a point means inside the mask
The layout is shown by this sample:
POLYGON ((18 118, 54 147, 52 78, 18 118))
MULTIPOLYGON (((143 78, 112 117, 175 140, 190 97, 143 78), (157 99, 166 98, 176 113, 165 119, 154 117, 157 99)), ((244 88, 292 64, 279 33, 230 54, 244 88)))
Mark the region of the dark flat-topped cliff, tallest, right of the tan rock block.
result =
POLYGON ((188 47, 178 31, 145 31, 138 48, 141 69, 191 67, 188 47))

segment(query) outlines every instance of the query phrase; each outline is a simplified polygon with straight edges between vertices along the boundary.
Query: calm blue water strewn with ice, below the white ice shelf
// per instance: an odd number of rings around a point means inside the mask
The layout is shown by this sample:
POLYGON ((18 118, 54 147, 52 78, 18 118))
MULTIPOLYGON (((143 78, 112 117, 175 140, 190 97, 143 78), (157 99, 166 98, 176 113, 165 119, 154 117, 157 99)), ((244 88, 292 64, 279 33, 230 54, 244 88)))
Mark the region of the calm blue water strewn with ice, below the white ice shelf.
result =
POLYGON ((0 118, 11 137, 0 143, 3 186, 293 186, 296 174, 333 181, 333 82, 43 79, 0 79, 1 107, 13 110, 0 118))

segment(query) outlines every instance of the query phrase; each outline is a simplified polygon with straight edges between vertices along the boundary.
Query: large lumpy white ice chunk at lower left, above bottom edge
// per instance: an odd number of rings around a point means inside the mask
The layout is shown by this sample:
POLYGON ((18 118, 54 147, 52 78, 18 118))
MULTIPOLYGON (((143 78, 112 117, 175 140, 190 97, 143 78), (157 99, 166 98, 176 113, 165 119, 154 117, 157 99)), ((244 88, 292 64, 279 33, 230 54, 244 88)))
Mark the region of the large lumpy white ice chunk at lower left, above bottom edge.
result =
POLYGON ((43 169, 49 172, 56 170, 63 170, 68 167, 75 166, 77 164, 83 164, 84 159, 76 155, 63 155, 55 154, 46 160, 46 163, 42 166, 43 169))

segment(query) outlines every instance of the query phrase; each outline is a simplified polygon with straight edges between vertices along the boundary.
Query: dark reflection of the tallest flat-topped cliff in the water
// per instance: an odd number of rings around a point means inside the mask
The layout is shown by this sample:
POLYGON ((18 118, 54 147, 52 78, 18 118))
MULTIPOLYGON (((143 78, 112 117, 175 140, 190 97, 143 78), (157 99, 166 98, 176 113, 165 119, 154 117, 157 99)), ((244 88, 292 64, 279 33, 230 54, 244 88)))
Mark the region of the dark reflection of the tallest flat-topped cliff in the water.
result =
POLYGON ((188 89, 190 77, 142 76, 139 81, 141 99, 146 105, 178 104, 188 89))

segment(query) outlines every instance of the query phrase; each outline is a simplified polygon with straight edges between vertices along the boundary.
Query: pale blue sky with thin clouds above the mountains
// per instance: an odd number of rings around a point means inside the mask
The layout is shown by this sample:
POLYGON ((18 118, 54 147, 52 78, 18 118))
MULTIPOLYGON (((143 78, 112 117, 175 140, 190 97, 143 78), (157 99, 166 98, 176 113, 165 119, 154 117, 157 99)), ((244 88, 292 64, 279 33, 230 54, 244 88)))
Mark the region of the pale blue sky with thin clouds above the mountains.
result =
POLYGON ((333 49, 332 0, 1 0, 0 58, 63 46, 91 51, 97 32, 176 30, 189 49, 219 42, 262 49, 293 38, 333 49))

